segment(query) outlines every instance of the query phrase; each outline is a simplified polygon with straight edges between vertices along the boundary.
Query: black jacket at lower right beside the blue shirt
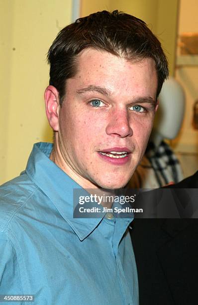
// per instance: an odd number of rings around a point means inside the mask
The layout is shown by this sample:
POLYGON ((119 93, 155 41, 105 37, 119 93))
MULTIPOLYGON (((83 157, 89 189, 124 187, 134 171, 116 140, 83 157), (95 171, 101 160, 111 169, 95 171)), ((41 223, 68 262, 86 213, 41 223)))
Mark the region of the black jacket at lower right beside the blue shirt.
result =
MULTIPOLYGON (((198 188, 198 171, 172 188, 198 188)), ((140 305, 198 305, 198 219, 134 219, 140 305)))

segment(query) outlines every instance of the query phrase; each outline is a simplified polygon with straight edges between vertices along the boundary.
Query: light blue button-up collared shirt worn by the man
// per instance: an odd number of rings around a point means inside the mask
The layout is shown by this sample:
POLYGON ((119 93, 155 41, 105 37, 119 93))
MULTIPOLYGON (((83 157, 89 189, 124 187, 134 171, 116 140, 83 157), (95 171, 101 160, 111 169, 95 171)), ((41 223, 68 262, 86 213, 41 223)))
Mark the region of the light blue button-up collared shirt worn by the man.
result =
MULTIPOLYGON (((34 305, 138 305, 131 218, 73 218, 81 188, 35 144, 26 170, 0 187, 0 295, 34 305)), ((4 303, 2 303, 4 304, 4 303)))

